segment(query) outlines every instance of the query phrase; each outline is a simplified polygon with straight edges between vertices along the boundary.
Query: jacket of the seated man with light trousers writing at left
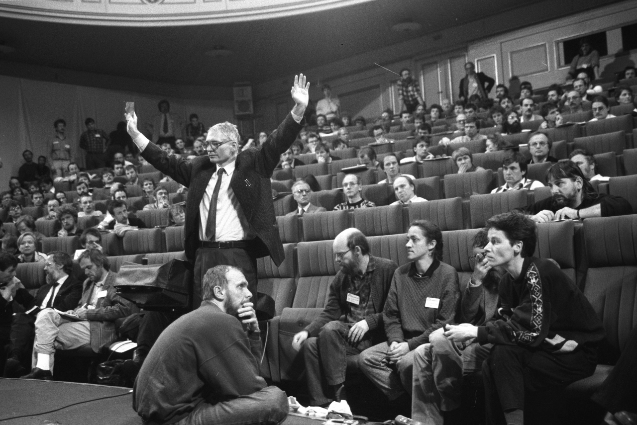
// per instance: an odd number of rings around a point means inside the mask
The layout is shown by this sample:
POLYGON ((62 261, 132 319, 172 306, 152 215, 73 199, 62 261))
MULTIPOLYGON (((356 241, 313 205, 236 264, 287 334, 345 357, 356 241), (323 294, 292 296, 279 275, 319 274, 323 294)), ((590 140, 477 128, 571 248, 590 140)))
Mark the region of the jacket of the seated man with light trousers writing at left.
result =
MULTIPOLYGON (((132 313, 138 312, 138 308, 121 296, 117 295, 115 290, 115 273, 108 272, 106 280, 101 291, 106 291, 106 296, 97 298, 95 309, 87 312, 90 326, 90 347, 94 352, 99 352, 101 347, 117 340, 117 331, 115 330, 115 320, 122 317, 130 316, 132 313)), ((78 305, 81 307, 90 301, 92 296, 91 288, 94 284, 86 279, 83 283, 82 298, 78 305)))

